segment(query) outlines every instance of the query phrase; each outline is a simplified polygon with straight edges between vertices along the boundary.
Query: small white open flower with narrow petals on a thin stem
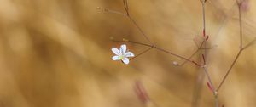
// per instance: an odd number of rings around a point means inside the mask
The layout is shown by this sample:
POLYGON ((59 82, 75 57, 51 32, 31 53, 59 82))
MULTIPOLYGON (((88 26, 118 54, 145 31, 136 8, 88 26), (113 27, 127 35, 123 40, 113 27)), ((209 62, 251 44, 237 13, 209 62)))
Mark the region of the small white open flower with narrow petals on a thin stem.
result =
POLYGON ((115 54, 115 56, 112 57, 113 60, 122 60, 125 65, 129 64, 128 57, 134 57, 134 54, 131 52, 126 52, 126 45, 123 44, 121 47, 118 48, 112 48, 112 52, 115 54))

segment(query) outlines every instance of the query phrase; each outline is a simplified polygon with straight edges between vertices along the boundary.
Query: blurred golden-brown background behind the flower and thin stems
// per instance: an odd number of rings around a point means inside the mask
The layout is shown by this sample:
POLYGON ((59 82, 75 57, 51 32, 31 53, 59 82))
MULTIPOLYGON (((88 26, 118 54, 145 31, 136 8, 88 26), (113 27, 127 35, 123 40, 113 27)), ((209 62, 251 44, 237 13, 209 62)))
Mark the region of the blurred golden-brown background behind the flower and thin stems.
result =
MULTIPOLYGON (((244 44, 256 37, 256 1, 242 11, 244 44)), ((125 13, 122 0, 1 0, 0 107, 143 107, 134 91, 143 83, 154 106, 213 107, 202 70, 155 49, 131 60, 113 61, 112 47, 123 38, 148 43, 131 20, 97 7, 125 13)), ((186 58, 201 37, 199 0, 129 0, 131 17, 160 48, 186 58), (195 40, 195 41, 194 41, 195 40)), ((207 64, 218 86, 239 51, 235 0, 208 0, 207 64)), ((138 54, 147 47, 126 43, 138 54)), ((256 46, 238 59, 219 104, 256 106, 256 46)), ((201 60, 201 53, 193 58, 201 60)))

